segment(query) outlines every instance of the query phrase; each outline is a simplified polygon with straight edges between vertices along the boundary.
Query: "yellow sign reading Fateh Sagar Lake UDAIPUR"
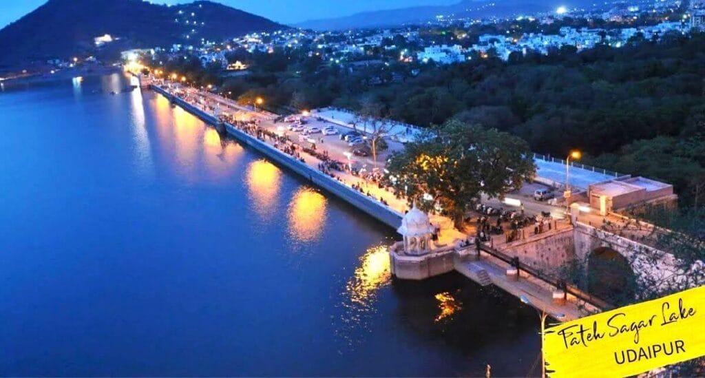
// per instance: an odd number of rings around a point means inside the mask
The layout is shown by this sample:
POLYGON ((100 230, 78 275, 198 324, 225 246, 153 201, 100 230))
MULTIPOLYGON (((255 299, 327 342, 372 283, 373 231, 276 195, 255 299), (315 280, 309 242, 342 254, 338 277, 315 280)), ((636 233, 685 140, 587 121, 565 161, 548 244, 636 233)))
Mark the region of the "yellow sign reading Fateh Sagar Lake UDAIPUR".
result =
POLYGON ((705 286, 546 329, 553 377, 627 377, 705 355, 705 286))

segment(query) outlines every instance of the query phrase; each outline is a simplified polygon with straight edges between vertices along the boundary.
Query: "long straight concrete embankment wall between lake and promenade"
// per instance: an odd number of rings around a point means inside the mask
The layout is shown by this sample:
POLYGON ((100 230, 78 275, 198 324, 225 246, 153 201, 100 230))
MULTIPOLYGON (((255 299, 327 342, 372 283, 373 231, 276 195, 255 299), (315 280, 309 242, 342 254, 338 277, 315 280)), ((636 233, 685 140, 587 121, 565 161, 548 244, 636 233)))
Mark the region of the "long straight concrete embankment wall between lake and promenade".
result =
MULTIPOLYGON (((158 87, 157 85, 152 85, 151 88, 152 90, 154 90, 154 92, 162 94, 164 97, 168 98, 171 102, 177 104, 185 111, 188 111, 194 116, 201 118, 205 123, 209 124, 210 126, 219 127, 221 125, 221 122, 218 118, 212 116, 211 114, 208 114, 202 109, 198 109, 196 106, 185 102, 179 97, 173 96, 161 87, 158 87)), ((309 183, 311 183, 312 185, 317 185, 319 188, 322 188, 327 192, 336 195, 336 197, 339 197, 341 198, 341 200, 348 202, 354 207, 357 207, 357 209, 362 210, 362 212, 369 214, 374 219, 381 221, 387 226, 397 228, 401 223, 401 218, 403 217, 403 214, 400 214, 399 212, 396 212, 395 210, 382 205, 381 203, 377 202, 376 200, 373 200, 370 197, 367 197, 366 195, 363 195, 357 190, 353 190, 353 188, 350 188, 348 185, 345 185, 340 181, 331 178, 330 176, 327 176, 321 171, 315 169, 314 167, 302 163, 298 159, 295 159, 294 157, 291 157, 290 155, 285 154, 280 150, 277 150, 273 146, 266 144, 266 142, 258 140, 252 135, 249 135, 243 132, 242 130, 239 130, 238 128, 229 123, 225 124, 225 130, 228 132, 228 134, 232 135, 233 138, 264 154, 265 157, 267 157, 274 163, 286 167, 290 171, 298 173, 300 176, 305 178, 305 180, 309 181, 309 183)))

